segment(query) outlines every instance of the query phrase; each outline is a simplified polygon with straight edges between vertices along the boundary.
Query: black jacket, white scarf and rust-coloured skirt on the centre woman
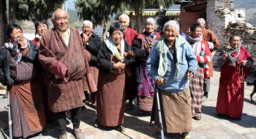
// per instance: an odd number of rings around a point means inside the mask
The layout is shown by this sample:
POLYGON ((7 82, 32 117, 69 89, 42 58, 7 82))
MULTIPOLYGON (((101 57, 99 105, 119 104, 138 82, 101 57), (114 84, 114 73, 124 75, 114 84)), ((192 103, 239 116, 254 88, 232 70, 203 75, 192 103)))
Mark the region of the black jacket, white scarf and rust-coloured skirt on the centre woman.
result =
POLYGON ((108 38, 102 43, 97 56, 100 81, 97 87, 97 120, 103 127, 116 127, 124 123, 125 69, 114 69, 113 64, 119 61, 115 56, 117 53, 126 66, 135 60, 134 57, 124 57, 124 52, 132 50, 129 44, 122 40, 120 45, 121 49, 117 49, 116 44, 108 38))

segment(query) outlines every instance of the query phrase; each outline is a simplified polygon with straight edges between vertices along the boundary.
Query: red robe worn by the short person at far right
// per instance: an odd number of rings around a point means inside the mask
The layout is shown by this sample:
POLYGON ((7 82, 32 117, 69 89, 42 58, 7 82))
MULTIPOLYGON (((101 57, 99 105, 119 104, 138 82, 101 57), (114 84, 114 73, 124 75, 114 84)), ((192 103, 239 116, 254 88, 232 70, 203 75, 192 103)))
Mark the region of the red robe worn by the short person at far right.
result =
MULTIPOLYGON (((233 52, 232 56, 235 56, 233 52)), ((244 106, 244 82, 243 79, 249 74, 250 68, 241 66, 241 60, 251 57, 244 47, 240 48, 240 60, 236 66, 228 65, 228 60, 221 68, 219 78, 219 92, 217 98, 217 113, 227 114, 232 118, 242 116, 244 106), (239 68, 240 66, 240 68, 239 68)))

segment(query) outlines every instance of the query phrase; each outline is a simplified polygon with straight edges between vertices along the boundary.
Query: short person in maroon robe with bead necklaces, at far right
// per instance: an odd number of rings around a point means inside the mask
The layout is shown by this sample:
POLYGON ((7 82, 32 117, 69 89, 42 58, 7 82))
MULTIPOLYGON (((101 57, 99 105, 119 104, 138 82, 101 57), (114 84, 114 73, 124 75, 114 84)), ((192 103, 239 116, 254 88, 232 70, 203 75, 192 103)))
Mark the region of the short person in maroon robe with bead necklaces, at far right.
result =
POLYGON ((219 92, 217 98, 217 113, 227 114, 230 118, 241 119, 244 106, 244 78, 252 67, 252 57, 241 46, 240 37, 230 37, 231 48, 219 54, 218 64, 221 67, 219 92))

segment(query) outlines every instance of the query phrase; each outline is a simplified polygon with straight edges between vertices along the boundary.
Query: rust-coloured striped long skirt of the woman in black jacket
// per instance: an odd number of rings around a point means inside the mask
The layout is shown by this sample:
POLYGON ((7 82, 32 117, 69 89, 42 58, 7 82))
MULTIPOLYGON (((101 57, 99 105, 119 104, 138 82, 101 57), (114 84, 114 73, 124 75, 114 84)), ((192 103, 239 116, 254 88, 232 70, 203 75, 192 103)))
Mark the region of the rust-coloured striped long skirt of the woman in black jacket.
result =
POLYGON ((97 119, 104 127, 115 127, 124 123, 124 80, 124 73, 108 74, 99 71, 97 119))

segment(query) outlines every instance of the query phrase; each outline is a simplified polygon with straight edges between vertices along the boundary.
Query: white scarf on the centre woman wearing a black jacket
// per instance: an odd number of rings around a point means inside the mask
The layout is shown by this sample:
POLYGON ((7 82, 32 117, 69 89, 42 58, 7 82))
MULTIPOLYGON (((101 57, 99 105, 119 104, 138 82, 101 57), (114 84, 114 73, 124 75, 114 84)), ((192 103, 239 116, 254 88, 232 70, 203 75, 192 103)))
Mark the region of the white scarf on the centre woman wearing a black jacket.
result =
MULTIPOLYGON (((116 44, 112 41, 112 39, 110 39, 110 37, 105 39, 105 44, 108 47, 108 49, 112 52, 113 56, 116 56, 117 54, 119 54, 116 44)), ((120 46, 121 46, 121 52, 120 52, 121 57, 124 59, 124 39, 121 40, 120 46)))

